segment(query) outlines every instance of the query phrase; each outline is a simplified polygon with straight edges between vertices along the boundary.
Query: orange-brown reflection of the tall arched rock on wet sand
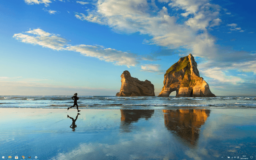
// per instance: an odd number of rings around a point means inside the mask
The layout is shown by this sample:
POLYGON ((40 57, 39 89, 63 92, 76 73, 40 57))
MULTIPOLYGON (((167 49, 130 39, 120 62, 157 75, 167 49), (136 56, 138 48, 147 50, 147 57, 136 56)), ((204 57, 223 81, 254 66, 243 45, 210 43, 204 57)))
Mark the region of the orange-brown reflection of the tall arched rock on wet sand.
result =
POLYGON ((210 110, 178 109, 163 110, 164 124, 169 131, 177 134, 191 145, 196 145, 201 125, 204 125, 210 110))

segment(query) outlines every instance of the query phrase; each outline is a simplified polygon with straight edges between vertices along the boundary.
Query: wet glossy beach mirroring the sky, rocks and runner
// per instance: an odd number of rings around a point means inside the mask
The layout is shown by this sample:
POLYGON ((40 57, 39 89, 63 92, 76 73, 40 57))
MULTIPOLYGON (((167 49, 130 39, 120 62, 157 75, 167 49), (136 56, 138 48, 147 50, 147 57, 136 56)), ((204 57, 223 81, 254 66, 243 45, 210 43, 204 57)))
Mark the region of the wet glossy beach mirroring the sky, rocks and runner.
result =
POLYGON ((255 160, 254 108, 81 109, 79 113, 0 108, 1 155, 37 156, 38 160, 217 160, 225 156, 255 160))

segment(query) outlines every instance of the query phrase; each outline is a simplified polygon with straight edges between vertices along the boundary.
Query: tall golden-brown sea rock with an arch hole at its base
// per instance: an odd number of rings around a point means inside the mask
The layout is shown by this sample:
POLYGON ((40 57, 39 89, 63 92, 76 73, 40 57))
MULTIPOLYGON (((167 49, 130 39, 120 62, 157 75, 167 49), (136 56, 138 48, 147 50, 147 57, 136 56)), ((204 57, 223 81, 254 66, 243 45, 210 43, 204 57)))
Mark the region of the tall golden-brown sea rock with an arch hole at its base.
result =
POLYGON ((173 91, 176 91, 176 97, 216 97, 209 84, 199 76, 192 54, 180 58, 166 71, 163 84, 159 97, 168 97, 173 91))

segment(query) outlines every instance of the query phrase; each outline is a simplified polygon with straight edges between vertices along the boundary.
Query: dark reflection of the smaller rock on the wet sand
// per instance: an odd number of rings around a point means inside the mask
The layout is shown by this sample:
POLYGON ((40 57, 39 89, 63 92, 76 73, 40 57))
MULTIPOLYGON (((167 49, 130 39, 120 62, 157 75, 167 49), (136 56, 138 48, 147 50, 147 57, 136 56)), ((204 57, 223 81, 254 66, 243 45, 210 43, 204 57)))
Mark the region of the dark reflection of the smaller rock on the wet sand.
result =
POLYGON ((140 118, 151 118, 154 110, 120 110, 121 111, 121 124, 120 128, 123 132, 131 132, 132 122, 137 122, 140 118))

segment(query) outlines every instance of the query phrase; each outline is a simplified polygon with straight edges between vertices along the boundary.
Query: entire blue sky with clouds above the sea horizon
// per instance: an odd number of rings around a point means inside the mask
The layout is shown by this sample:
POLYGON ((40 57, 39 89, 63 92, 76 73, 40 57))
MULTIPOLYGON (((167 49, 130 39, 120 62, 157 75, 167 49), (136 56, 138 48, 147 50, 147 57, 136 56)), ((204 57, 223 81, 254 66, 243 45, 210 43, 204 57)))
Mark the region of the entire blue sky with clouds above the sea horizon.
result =
POLYGON ((0 95, 115 96, 128 70, 157 96, 191 53, 216 96, 255 96, 253 13, 240 0, 1 0, 0 95))

